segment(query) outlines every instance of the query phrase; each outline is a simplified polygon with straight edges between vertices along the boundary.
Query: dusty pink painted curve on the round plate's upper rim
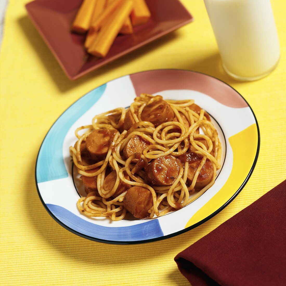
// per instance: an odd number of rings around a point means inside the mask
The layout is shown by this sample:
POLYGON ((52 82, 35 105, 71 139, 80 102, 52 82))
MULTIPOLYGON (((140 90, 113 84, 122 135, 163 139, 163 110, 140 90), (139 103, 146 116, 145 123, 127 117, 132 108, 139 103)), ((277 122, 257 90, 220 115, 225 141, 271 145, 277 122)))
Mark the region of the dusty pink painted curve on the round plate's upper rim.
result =
POLYGON ((233 108, 248 107, 233 88, 211 76, 178 69, 159 69, 130 75, 136 95, 163 90, 196 90, 233 108))

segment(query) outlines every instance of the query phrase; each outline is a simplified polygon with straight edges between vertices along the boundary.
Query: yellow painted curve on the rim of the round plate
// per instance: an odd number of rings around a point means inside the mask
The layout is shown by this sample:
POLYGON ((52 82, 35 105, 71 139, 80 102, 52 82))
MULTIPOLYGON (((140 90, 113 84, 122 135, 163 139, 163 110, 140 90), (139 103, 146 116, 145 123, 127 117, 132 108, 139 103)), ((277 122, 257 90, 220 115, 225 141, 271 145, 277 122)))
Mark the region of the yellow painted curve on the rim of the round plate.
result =
POLYGON ((231 136, 229 143, 233 150, 233 167, 229 178, 219 192, 190 218, 185 228, 198 223, 219 209, 242 185, 251 169, 257 151, 258 133, 256 124, 231 136))

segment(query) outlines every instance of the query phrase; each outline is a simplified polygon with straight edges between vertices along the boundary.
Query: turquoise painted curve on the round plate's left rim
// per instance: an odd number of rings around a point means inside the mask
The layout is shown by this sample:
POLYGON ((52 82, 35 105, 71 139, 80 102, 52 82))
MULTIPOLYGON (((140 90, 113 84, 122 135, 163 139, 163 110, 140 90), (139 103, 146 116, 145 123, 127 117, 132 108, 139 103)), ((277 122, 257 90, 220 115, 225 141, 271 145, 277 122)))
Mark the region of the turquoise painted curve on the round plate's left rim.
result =
POLYGON ((92 90, 70 106, 53 124, 45 137, 37 159, 37 183, 68 176, 63 161, 63 140, 69 128, 102 96, 106 84, 92 90))

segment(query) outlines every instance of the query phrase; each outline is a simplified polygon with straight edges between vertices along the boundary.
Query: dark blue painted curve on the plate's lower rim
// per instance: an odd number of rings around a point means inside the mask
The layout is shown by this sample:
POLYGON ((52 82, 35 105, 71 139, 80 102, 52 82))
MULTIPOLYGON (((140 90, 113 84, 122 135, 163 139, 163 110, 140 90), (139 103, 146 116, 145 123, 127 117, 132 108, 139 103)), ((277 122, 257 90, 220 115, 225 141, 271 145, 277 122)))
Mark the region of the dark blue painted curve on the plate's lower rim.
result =
POLYGON ((69 210, 55 204, 47 204, 51 213, 57 219, 83 235, 110 241, 137 241, 162 237, 164 234, 158 219, 152 219, 138 225, 128 227, 104 227, 81 219, 69 210))

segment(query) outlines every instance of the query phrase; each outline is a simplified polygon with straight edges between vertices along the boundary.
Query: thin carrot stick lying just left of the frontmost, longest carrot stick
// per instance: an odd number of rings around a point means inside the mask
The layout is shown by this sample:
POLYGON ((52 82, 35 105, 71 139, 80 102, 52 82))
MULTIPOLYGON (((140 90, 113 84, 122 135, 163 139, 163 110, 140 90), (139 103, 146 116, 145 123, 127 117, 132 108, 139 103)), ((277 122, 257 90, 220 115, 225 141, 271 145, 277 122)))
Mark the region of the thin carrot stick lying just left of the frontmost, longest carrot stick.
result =
POLYGON ((104 21, 106 21, 110 17, 110 15, 112 15, 112 13, 123 1, 126 0, 109 1, 103 13, 99 17, 97 17, 94 22, 92 22, 90 30, 88 31, 88 34, 86 36, 86 41, 84 43, 86 49, 90 48, 90 46, 94 42, 96 35, 98 34, 98 30, 102 27, 104 21))

